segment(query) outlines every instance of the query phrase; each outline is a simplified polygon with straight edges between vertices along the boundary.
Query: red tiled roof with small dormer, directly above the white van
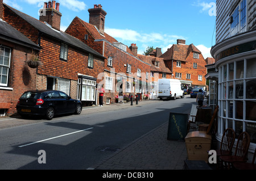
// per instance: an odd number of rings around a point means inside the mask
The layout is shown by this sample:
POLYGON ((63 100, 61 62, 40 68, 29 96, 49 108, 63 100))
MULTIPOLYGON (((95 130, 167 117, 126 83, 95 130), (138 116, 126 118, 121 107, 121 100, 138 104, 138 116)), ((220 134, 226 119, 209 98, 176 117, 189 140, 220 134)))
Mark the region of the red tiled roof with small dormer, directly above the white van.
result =
POLYGON ((163 58, 156 58, 150 56, 144 56, 142 54, 138 54, 138 58, 142 61, 150 64, 151 70, 156 72, 164 72, 164 73, 171 73, 171 70, 166 67, 163 58), (156 67, 154 62, 159 61, 159 67, 156 67))

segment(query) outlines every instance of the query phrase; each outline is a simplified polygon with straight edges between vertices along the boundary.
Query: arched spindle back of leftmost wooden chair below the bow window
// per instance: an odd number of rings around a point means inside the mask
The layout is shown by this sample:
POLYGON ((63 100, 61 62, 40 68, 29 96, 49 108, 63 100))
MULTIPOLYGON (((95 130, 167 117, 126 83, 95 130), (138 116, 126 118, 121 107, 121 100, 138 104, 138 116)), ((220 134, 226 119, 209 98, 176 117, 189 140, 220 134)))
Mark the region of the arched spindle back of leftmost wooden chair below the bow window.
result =
POLYGON ((221 139, 220 149, 228 151, 229 154, 231 154, 235 139, 236 139, 236 133, 234 129, 232 128, 225 129, 221 139))

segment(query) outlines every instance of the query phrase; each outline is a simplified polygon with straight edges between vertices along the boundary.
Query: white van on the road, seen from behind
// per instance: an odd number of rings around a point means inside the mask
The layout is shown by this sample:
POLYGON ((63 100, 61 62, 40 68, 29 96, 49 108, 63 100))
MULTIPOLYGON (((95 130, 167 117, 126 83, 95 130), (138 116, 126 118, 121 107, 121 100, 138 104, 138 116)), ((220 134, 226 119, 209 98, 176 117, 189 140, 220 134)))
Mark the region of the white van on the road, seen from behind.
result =
POLYGON ((176 99, 177 96, 184 98, 184 91, 181 90, 181 83, 178 79, 158 79, 158 98, 176 99))

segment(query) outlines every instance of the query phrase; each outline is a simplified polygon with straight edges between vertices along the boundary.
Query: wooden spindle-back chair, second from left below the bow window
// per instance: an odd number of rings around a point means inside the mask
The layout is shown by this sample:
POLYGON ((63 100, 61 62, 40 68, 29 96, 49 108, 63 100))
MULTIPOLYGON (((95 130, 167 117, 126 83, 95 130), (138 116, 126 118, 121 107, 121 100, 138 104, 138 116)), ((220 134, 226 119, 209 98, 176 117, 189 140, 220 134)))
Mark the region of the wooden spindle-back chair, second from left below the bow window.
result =
POLYGON ((222 169, 230 169, 233 167, 234 162, 246 162, 247 153, 250 146, 250 134, 242 132, 238 136, 236 151, 234 155, 221 155, 221 167, 222 169))

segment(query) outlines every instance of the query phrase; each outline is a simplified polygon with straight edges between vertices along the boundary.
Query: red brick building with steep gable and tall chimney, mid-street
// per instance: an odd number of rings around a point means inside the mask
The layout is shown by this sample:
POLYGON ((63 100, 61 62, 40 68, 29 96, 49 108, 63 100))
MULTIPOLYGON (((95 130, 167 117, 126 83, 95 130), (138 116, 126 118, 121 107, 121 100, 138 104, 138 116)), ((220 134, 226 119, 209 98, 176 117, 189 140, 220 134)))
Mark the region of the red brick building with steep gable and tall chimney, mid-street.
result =
POLYGON ((99 85, 104 85, 106 91, 104 102, 115 102, 118 94, 146 94, 150 87, 150 64, 138 58, 135 44, 127 47, 104 31, 106 12, 101 5, 94 5, 88 11, 89 23, 76 16, 65 32, 108 58, 104 73, 99 75, 99 85))

